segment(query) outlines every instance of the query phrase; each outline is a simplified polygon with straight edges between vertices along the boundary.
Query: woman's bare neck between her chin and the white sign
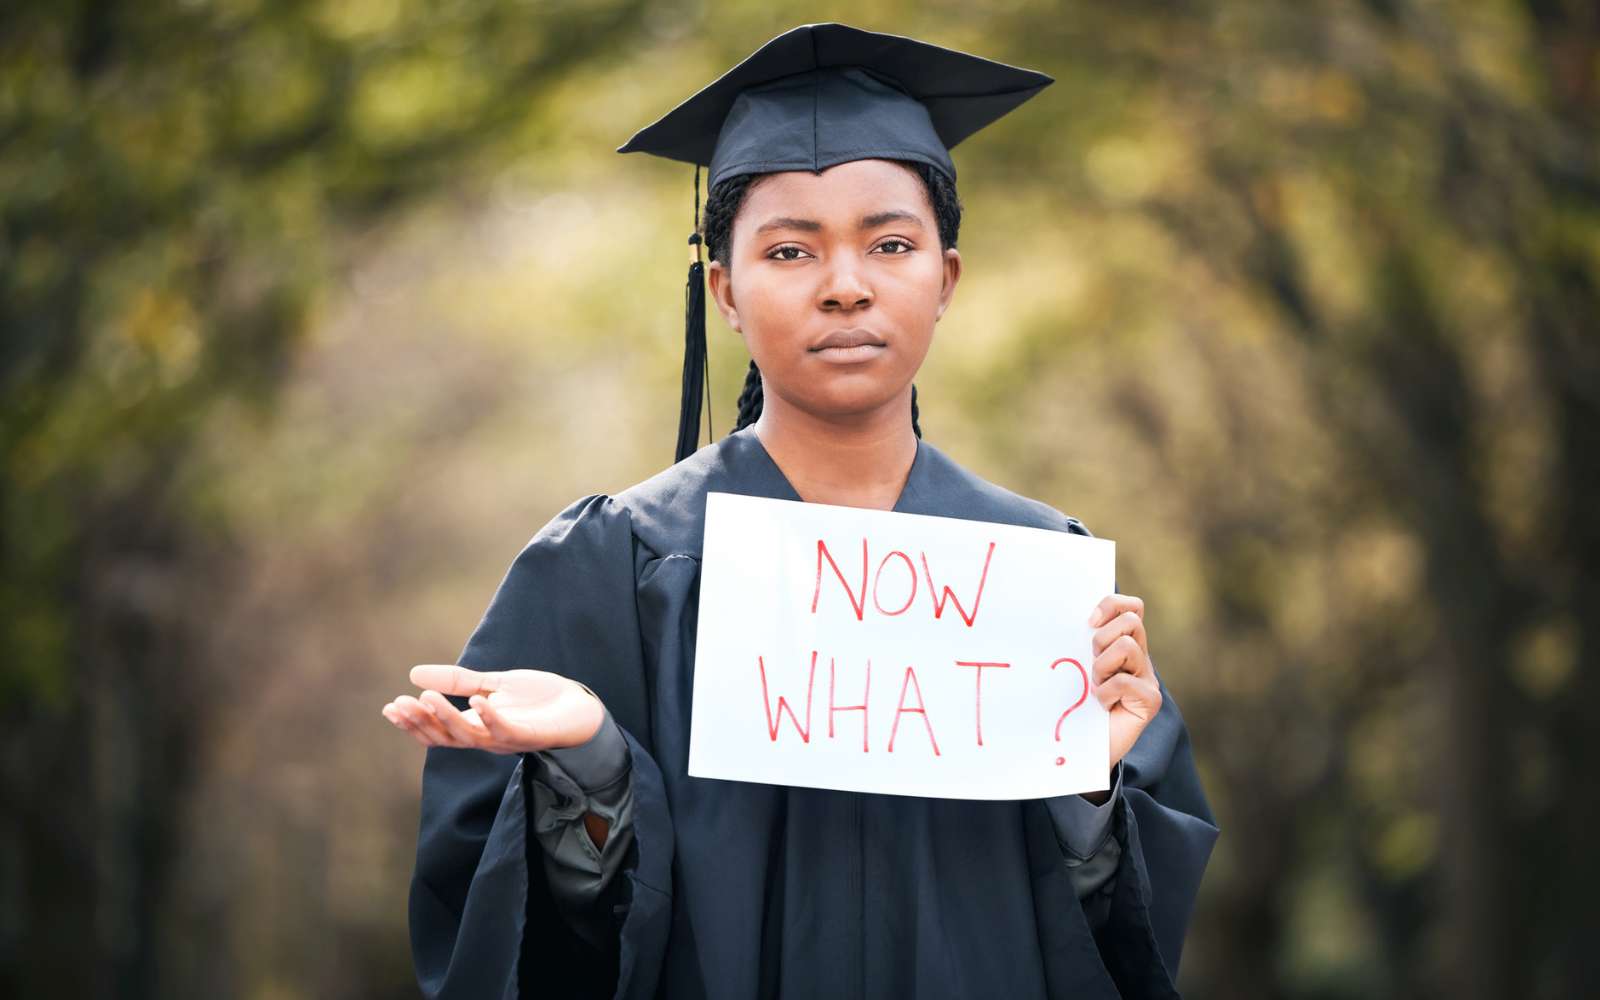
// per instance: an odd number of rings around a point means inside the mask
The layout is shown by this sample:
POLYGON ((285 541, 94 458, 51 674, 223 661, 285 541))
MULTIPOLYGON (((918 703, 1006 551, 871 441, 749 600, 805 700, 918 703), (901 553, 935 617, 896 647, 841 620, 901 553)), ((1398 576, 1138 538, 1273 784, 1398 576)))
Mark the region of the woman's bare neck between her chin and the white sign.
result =
POLYGON ((848 418, 822 418, 790 406, 776 394, 765 395, 755 435, 800 499, 875 510, 894 507, 917 458, 910 386, 894 402, 848 418))

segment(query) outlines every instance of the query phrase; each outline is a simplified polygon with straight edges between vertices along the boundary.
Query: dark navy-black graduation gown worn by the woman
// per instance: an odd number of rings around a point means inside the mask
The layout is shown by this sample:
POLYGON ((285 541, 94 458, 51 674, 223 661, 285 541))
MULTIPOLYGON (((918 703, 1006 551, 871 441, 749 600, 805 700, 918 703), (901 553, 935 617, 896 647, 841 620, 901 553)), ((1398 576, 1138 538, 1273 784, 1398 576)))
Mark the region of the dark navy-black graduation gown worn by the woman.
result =
MULTIPOLYGON (((1123 762, 1110 915, 1091 930, 1043 800, 966 802, 690 778, 706 493, 800 499, 754 429, 522 550, 461 662, 594 688, 632 762, 616 949, 557 915, 528 835, 526 755, 429 749, 411 882, 427 997, 1170 997, 1218 835, 1178 704, 1123 762)), ((894 506, 1088 531, 920 442, 894 506)), ((461 699, 458 699, 459 704, 461 699)))

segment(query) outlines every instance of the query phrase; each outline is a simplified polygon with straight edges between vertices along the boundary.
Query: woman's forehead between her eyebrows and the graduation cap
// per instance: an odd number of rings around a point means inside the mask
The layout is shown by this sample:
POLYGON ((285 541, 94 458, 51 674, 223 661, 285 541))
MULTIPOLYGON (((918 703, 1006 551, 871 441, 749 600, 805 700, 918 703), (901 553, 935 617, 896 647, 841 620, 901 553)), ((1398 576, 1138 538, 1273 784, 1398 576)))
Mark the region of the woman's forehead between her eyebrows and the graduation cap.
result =
POLYGON ((758 222, 768 214, 800 213, 826 221, 886 208, 930 218, 933 213, 922 178, 909 166, 894 160, 850 160, 821 173, 792 170, 763 174, 746 192, 738 221, 758 222))

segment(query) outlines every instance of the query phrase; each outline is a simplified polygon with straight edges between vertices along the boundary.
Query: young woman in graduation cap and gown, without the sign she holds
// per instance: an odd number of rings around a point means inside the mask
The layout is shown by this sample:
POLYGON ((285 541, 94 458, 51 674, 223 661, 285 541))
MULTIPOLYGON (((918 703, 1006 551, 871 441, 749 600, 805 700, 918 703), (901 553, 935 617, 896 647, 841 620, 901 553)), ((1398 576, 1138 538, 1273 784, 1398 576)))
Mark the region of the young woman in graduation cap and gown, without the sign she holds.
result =
POLYGON ((429 747, 426 995, 1174 995, 1218 829, 1138 597, 1090 622, 1109 794, 686 774, 706 493, 1088 534, 922 440, 912 387, 962 275, 947 147, 1040 80, 802 26, 624 146, 710 165, 710 296, 752 358, 739 422, 557 514, 461 662, 416 667, 422 694, 384 706, 429 747))

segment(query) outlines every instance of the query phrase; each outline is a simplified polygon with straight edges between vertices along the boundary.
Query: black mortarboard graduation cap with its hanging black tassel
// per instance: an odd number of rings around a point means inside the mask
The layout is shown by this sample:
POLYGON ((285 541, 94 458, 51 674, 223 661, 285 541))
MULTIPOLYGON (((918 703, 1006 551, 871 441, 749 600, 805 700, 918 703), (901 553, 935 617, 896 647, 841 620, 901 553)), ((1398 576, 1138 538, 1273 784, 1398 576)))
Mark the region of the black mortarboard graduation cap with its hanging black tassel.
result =
POLYGON ((950 147, 1053 82, 904 35, 802 24, 618 147, 694 165, 677 461, 698 446, 707 362, 699 168, 707 192, 738 174, 867 158, 926 163, 954 182, 950 147))

